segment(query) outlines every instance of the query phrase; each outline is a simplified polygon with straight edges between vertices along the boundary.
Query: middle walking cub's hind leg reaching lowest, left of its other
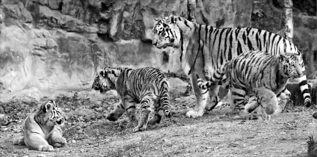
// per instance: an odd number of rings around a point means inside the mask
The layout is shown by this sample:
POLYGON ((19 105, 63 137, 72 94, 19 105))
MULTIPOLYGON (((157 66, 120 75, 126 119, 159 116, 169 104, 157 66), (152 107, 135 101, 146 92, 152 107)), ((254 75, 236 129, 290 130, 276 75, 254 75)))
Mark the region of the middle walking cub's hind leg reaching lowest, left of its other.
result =
POLYGON ((140 120, 137 127, 134 127, 133 132, 143 131, 147 127, 149 122, 149 116, 152 111, 151 106, 154 105, 155 95, 153 93, 147 93, 140 101, 140 120))

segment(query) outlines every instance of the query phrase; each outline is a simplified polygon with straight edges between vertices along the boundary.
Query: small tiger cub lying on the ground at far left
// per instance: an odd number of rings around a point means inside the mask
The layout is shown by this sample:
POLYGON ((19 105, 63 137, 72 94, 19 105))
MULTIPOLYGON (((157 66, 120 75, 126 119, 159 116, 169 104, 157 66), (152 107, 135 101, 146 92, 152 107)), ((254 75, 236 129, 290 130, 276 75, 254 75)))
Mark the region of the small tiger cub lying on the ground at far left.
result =
POLYGON ((67 116, 53 100, 42 104, 27 117, 22 131, 24 137, 14 141, 15 145, 26 145, 39 151, 52 151, 53 146, 64 146, 61 126, 67 116))

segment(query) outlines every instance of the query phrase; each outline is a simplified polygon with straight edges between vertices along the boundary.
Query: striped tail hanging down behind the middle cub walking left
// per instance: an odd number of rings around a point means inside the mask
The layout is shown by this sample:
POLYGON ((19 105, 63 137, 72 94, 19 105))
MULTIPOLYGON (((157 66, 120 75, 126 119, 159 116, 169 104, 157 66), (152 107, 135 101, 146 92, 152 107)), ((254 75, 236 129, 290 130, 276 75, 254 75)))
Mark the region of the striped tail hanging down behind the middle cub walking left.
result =
POLYGON ((163 91, 161 93, 161 98, 160 98, 160 102, 161 102, 161 106, 163 108, 163 112, 164 115, 166 117, 171 117, 174 115, 174 113, 172 111, 170 111, 170 104, 169 104, 169 86, 167 82, 162 82, 161 88, 163 88, 163 91))

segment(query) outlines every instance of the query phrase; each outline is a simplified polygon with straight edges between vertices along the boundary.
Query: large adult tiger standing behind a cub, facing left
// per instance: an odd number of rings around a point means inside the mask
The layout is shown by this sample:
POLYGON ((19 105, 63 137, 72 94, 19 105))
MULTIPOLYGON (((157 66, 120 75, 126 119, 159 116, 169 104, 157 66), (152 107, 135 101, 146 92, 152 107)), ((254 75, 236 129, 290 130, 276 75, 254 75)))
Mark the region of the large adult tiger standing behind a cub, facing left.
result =
MULTIPOLYGON (((225 62, 243 52, 260 50, 268 54, 298 53, 297 47, 280 35, 256 28, 215 28, 207 25, 192 23, 184 17, 168 16, 155 19, 152 44, 159 49, 173 47, 180 51, 179 59, 185 73, 190 77, 197 106, 187 112, 188 117, 200 117, 203 111, 212 110, 218 103, 219 85, 209 89, 197 86, 199 74, 204 79, 211 77, 213 72, 225 62), (210 95, 211 103, 206 106, 210 95)), ((306 81, 305 67, 302 57, 300 62, 303 76, 298 82, 305 99, 305 105, 310 106, 311 97, 306 81)), ((277 94, 278 99, 284 96, 290 98, 289 91, 284 88, 277 94)), ((254 100, 254 98, 252 98, 254 100)))

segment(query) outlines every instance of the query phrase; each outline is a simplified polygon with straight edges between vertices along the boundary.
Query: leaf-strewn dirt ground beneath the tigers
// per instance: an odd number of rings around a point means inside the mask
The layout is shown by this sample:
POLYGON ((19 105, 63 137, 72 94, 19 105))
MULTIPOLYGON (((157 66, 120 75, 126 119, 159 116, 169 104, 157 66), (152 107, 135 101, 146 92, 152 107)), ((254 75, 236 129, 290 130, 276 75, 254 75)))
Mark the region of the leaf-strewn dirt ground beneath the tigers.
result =
POLYGON ((171 94, 178 117, 133 133, 125 128, 125 115, 117 122, 105 119, 118 102, 115 94, 89 96, 94 92, 0 102, 0 156, 306 156, 308 136, 317 138, 314 106, 287 106, 268 121, 242 120, 229 106, 192 119, 185 114, 195 106, 193 94, 171 94), (67 145, 51 152, 13 145, 27 114, 52 97, 69 116, 63 127, 67 145))

